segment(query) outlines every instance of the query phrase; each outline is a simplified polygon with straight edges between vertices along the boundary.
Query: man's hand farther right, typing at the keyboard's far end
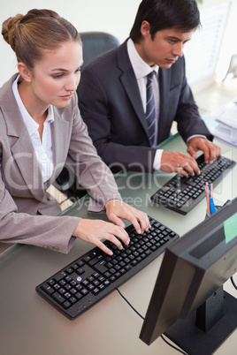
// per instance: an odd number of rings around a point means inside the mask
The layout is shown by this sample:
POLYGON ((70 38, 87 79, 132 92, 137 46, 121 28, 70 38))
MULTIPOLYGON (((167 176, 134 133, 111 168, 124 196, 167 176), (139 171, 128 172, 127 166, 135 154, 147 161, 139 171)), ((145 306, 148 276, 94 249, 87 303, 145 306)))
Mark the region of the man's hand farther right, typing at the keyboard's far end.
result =
POLYGON ((196 158, 196 152, 202 150, 205 162, 213 162, 220 155, 220 147, 212 143, 210 140, 205 140, 202 137, 194 137, 188 141, 187 153, 193 158, 196 158))

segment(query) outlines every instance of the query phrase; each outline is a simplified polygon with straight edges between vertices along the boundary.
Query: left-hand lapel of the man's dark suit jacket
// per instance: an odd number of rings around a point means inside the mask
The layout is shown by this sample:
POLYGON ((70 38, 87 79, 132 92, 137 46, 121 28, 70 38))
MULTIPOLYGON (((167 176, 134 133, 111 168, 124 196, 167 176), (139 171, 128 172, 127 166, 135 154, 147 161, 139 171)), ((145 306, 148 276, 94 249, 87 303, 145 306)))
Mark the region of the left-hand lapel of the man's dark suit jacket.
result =
POLYGON ((121 84, 123 85, 126 94, 129 97, 129 100, 134 108, 134 111, 141 122, 141 126, 143 127, 149 139, 146 116, 141 102, 139 87, 137 85, 137 81, 134 76, 134 70, 127 54, 126 42, 124 42, 118 48, 118 64, 119 64, 119 69, 121 69, 123 72, 123 74, 120 77, 121 84))

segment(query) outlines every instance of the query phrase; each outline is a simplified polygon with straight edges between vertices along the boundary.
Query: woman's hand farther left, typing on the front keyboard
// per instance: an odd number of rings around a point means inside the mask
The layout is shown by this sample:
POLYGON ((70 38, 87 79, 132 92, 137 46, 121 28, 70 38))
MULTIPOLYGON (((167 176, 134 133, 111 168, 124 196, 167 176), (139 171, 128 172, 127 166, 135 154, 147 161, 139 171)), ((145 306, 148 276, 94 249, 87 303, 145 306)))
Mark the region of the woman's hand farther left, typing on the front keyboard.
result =
POLYGON ((122 249, 120 240, 126 245, 129 244, 128 234, 123 227, 101 220, 81 219, 73 231, 73 237, 92 243, 109 255, 112 255, 112 252, 103 244, 102 239, 110 240, 119 249, 122 249))

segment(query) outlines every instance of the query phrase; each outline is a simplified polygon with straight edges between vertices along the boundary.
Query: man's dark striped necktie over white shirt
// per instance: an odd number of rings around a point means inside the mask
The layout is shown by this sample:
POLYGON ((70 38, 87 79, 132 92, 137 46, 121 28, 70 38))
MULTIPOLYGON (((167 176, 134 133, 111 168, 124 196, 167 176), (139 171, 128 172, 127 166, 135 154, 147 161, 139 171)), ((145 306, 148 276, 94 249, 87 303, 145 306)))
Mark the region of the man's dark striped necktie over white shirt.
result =
POLYGON ((149 141, 150 146, 155 147, 156 142, 156 110, 155 110, 155 100, 152 88, 152 80, 154 75, 156 74, 155 71, 150 72, 147 76, 147 107, 146 107, 146 118, 148 122, 148 130, 149 130, 149 141))

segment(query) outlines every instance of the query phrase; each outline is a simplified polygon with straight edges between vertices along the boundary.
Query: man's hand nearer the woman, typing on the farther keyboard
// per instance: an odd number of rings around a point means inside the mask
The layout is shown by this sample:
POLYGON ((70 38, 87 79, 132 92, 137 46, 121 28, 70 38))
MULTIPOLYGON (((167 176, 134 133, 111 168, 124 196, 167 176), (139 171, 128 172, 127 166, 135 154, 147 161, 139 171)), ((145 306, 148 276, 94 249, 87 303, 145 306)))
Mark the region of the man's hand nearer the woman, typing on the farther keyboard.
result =
POLYGON ((194 176, 200 174, 195 159, 180 152, 163 152, 161 155, 160 170, 165 172, 177 172, 180 175, 194 176))

